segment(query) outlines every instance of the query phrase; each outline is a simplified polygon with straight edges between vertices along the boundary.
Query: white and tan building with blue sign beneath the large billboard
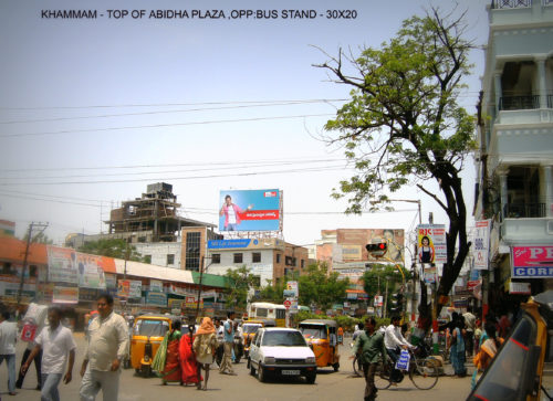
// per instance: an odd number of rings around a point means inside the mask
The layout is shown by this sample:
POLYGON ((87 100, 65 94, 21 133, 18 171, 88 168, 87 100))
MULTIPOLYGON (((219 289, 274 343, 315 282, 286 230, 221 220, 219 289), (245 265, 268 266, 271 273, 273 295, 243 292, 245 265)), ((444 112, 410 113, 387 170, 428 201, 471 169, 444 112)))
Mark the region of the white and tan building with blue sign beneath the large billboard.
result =
POLYGON ((237 239, 209 241, 206 271, 225 275, 227 271, 247 266, 259 276, 260 285, 307 267, 306 247, 289 244, 279 239, 237 239))

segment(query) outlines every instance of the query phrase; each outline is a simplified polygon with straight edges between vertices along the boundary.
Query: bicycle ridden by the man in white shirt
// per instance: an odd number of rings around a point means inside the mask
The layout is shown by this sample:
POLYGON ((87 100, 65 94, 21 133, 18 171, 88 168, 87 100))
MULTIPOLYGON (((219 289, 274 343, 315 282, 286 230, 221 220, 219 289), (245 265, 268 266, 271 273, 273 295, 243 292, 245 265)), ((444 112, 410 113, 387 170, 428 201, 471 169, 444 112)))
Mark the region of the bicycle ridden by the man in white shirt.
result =
MULTIPOLYGON (((401 382, 405 378, 405 373, 409 373, 409 379, 417 389, 430 390, 436 386, 439 378, 439 371, 435 360, 430 358, 417 358, 415 352, 410 349, 409 353, 409 367, 407 370, 401 371, 401 377, 395 382, 401 382)), ((375 387, 378 390, 386 390, 392 386, 392 370, 393 365, 390 360, 388 360, 387 363, 383 363, 382 361, 378 363, 375 374, 375 387)))

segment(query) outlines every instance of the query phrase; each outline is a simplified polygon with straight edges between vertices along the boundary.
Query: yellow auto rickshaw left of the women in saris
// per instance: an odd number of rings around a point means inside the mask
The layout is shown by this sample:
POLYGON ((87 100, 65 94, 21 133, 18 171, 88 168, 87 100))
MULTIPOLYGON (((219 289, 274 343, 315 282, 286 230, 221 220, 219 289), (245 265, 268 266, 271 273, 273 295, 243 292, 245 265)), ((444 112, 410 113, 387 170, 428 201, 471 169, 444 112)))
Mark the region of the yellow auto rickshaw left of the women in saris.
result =
POLYGON ((143 315, 135 319, 131 338, 131 366, 136 373, 145 378, 152 374, 154 356, 170 328, 170 316, 143 315))

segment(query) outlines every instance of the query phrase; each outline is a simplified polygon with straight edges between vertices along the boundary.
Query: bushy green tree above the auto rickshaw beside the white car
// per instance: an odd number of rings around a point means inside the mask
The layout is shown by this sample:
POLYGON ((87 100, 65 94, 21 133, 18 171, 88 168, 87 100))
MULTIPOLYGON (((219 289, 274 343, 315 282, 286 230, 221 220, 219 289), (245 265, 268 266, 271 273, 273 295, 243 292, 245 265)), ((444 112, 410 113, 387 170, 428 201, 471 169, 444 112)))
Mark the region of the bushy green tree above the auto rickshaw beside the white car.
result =
POLYGON ((298 282, 300 305, 315 305, 322 310, 343 302, 349 285, 348 279, 338 279, 338 273, 328 273, 328 267, 324 262, 307 266, 306 274, 300 276, 298 282))

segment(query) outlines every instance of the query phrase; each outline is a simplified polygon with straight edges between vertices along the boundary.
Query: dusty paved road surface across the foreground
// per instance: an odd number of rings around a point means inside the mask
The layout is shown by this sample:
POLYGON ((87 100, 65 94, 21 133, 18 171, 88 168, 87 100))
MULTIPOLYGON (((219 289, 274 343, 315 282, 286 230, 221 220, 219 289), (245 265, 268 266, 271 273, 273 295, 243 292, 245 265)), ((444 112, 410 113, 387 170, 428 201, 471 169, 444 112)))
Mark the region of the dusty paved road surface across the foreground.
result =
MULTIPOLYGON (((79 400, 79 387, 81 378, 79 369, 82 362, 84 351, 84 339, 80 334, 75 335, 77 342, 77 358, 73 371, 73 381, 65 386, 60 384, 62 400, 79 400)), ((24 345, 18 346, 17 365, 21 360, 24 345)), ((246 369, 246 362, 234 365, 237 377, 219 374, 217 370, 211 371, 208 391, 197 391, 194 387, 184 388, 177 384, 161 386, 157 378, 144 379, 134 376, 134 370, 128 369, 122 372, 119 400, 121 401, 148 401, 148 400, 169 400, 181 399, 182 397, 194 397, 195 400, 255 400, 255 401, 321 401, 321 400, 363 400, 365 382, 362 378, 352 376, 348 347, 342 349, 342 368, 338 372, 332 369, 321 369, 315 384, 306 384, 302 379, 298 380, 274 380, 268 383, 260 383, 251 377, 246 369)), ((0 394, 6 400, 38 400, 39 391, 34 390, 36 379, 32 366, 23 389, 18 390, 15 397, 8 395, 6 365, 0 367, 0 394)), ((408 401, 428 401, 432 400, 465 400, 469 393, 470 379, 453 379, 442 377, 438 384, 427 391, 416 389, 406 378, 397 388, 380 391, 378 400, 408 400, 408 401)), ((101 397, 97 398, 102 400, 101 397)))

